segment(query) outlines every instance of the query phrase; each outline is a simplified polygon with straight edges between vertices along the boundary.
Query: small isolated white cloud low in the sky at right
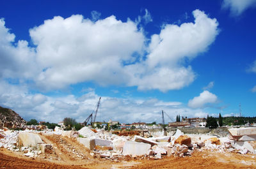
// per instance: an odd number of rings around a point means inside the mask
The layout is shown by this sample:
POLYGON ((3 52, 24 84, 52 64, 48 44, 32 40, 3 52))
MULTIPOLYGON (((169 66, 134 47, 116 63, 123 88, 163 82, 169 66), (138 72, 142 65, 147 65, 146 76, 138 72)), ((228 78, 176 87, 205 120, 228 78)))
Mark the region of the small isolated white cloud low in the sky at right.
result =
POLYGON ((216 103, 218 98, 209 91, 201 92, 199 96, 189 99, 188 106, 191 108, 203 108, 209 103, 216 103))

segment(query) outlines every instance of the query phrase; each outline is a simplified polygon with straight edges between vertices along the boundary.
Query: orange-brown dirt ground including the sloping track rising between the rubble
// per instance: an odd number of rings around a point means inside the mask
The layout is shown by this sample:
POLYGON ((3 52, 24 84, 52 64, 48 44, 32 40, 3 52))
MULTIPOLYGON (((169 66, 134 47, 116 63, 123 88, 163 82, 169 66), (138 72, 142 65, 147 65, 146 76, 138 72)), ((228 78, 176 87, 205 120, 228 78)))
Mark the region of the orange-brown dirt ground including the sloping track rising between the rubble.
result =
POLYGON ((0 149, 0 168, 256 168, 256 155, 220 153, 216 151, 194 152, 186 158, 163 156, 162 159, 96 158, 83 145, 62 136, 43 136, 45 143, 52 143, 52 152, 28 158, 24 152, 0 149))

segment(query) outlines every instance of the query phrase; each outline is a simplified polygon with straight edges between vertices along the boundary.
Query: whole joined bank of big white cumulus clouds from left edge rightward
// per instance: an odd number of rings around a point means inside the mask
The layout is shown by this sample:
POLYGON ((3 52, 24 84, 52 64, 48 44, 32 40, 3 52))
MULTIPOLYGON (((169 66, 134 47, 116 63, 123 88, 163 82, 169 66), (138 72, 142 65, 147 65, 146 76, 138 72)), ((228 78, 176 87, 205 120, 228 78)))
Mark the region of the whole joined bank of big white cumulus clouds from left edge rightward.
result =
MULTIPOLYGON (((95 82, 166 92, 195 80, 189 61, 207 51, 219 33, 216 18, 200 10, 193 11, 195 23, 166 24, 149 41, 129 18, 97 20, 98 14, 92 13, 93 20, 82 15, 45 20, 29 30, 35 47, 27 41, 15 43, 1 19, 0 75, 30 80, 42 91, 95 82)), ((143 19, 152 21, 148 10, 143 19)))

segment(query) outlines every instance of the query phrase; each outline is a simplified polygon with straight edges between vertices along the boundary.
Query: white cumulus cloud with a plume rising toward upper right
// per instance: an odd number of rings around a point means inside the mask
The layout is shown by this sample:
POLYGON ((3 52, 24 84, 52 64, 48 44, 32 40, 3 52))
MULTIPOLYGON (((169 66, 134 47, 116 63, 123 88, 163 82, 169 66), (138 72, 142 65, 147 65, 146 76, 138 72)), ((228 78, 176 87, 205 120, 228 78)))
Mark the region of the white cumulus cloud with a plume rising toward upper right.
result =
POLYGON ((167 24, 160 34, 152 35, 147 60, 129 68, 129 72, 136 70, 131 85, 138 85, 140 90, 166 92, 181 89, 195 80, 191 66, 183 66, 184 62, 205 52, 219 31, 217 20, 204 11, 195 10, 193 15, 195 23, 167 24))

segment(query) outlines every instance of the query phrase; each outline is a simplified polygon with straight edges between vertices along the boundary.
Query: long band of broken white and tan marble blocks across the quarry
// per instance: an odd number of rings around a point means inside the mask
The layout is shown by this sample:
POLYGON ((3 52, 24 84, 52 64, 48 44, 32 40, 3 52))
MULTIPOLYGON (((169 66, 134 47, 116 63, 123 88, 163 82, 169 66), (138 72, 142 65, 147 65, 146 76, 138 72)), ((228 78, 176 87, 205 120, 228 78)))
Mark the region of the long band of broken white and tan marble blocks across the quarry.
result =
MULTIPOLYGON (((217 138, 211 135, 184 135, 179 129, 172 136, 118 136, 109 131, 92 131, 84 127, 79 131, 4 131, 0 130, 0 147, 10 151, 22 151, 25 156, 33 157, 52 151, 41 135, 59 135, 76 139, 87 147, 95 158, 117 160, 124 157, 161 159, 163 156, 191 156, 194 151, 237 152, 256 154, 251 141, 255 140, 256 128, 230 129, 230 137, 217 138), (97 132, 97 133, 95 133, 97 132)), ((73 147, 74 148, 74 147, 73 147)), ((80 154, 83 157, 83 154, 80 154)))

